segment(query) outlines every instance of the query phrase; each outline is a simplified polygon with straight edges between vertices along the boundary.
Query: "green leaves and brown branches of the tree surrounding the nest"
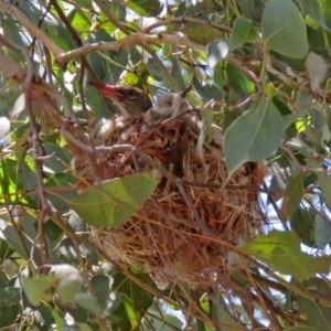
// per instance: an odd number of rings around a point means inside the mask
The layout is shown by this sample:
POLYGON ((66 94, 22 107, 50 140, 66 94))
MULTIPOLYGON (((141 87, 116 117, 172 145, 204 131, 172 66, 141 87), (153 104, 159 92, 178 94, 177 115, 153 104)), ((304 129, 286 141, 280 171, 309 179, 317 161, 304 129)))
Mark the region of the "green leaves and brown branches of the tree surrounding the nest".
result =
POLYGON ((0 0, 0 21, 1 330, 331 329, 330 0, 0 0), (89 241, 77 214, 116 226, 156 186, 139 174, 77 194, 86 122, 116 111, 98 79, 154 99, 191 84, 228 171, 268 164, 279 222, 233 247, 244 268, 222 286, 159 290, 89 241))

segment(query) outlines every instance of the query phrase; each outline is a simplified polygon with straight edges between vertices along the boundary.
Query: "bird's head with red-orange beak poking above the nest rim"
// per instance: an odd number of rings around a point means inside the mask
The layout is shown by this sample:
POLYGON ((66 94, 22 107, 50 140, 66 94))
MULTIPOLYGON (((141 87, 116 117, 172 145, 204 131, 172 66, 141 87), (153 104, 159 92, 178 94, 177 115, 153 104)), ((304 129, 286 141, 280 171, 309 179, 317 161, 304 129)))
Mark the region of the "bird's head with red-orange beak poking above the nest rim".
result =
POLYGON ((149 96, 138 87, 114 86, 97 82, 90 82, 89 85, 110 97, 127 118, 141 115, 152 107, 149 96))

